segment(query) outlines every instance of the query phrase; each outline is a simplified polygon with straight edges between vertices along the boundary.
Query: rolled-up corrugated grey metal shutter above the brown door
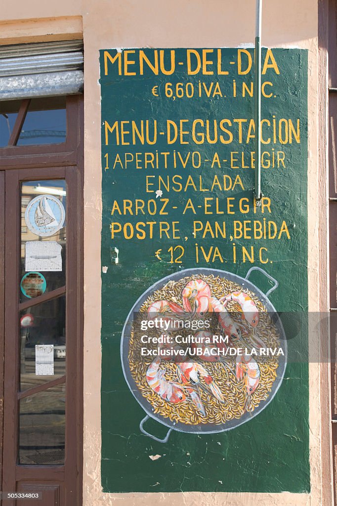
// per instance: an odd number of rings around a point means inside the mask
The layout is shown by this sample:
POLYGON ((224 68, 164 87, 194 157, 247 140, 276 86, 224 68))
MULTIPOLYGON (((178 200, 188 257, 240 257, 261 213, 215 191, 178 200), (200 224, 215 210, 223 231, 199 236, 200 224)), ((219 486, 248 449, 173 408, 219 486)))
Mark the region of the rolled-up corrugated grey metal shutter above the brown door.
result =
POLYGON ((0 47, 0 100, 83 92, 83 41, 0 47))

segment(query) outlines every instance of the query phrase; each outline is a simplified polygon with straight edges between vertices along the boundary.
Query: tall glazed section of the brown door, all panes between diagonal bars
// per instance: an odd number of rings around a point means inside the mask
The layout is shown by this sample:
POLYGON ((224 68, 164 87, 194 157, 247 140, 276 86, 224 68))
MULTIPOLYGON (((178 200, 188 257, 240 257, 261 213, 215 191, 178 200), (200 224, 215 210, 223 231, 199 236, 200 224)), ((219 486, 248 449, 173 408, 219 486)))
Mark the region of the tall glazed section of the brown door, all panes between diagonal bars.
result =
MULTIPOLYGON (((66 282, 66 196, 64 180, 21 183, 20 391, 27 394, 66 370, 66 296, 34 305, 66 282)), ((21 399, 19 411, 20 463, 62 464, 65 384, 21 399)))

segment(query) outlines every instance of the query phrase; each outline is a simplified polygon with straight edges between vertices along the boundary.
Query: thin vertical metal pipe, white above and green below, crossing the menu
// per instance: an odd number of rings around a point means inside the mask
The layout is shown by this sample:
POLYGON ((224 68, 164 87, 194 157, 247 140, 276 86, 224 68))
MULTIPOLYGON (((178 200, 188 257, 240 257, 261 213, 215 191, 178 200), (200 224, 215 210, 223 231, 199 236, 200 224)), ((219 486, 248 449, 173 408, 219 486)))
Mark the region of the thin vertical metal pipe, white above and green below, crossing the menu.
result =
POLYGON ((255 37, 255 192, 259 205, 263 196, 261 190, 261 26, 262 0, 256 0, 255 37))

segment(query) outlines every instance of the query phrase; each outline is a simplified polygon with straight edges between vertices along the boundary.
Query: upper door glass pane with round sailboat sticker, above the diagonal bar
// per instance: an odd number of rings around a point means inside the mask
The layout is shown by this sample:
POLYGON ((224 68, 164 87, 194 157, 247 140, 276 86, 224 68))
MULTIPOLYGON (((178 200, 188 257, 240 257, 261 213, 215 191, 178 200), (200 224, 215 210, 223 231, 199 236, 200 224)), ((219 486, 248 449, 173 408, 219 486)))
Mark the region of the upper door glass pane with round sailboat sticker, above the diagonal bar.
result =
POLYGON ((20 302, 65 285, 66 209, 64 180, 21 184, 20 302))

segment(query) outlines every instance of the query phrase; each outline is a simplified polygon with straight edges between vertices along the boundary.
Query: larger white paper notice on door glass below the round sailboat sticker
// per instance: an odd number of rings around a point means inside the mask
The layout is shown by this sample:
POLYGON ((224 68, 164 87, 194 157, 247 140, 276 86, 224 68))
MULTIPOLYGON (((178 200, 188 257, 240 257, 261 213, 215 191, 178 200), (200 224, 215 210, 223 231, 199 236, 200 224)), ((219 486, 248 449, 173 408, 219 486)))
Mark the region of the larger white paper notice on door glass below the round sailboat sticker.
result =
POLYGON ((56 241, 26 242, 26 272, 62 271, 61 250, 61 244, 56 241))

